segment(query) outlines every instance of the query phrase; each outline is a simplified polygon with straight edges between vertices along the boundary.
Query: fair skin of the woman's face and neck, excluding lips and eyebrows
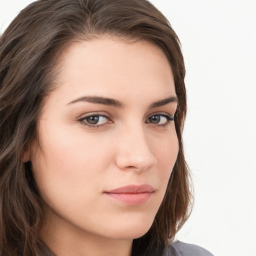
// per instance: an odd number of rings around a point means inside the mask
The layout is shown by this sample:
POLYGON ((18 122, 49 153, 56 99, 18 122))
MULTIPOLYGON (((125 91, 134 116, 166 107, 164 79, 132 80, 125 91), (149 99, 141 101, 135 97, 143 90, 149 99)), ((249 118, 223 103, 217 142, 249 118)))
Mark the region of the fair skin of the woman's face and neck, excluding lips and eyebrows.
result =
POLYGON ((149 42, 103 37, 72 44, 58 68, 58 86, 39 116, 39 141, 25 156, 44 201, 40 237, 58 256, 130 255, 132 239, 153 222, 177 157, 174 122, 166 118, 177 103, 150 108, 175 96, 171 67, 149 42), (83 96, 122 106, 77 100, 83 96), (154 191, 139 205, 104 193, 130 184, 154 191))

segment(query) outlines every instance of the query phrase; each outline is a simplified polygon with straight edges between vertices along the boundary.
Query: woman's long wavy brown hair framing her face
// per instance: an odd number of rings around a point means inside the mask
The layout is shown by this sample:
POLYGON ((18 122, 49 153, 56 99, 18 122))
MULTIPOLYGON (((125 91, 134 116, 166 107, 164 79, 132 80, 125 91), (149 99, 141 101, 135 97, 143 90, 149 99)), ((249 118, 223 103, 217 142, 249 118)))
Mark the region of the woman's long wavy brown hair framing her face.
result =
POLYGON ((147 0, 38 0, 0 36, 0 255, 50 255, 37 236, 42 202, 30 163, 23 163, 22 157, 37 135, 43 98, 56 86, 58 54, 73 41, 102 34, 160 47, 172 68, 179 100, 177 160, 154 222, 133 240, 132 255, 161 255, 189 215, 192 197, 181 138, 185 68, 167 19, 147 0))

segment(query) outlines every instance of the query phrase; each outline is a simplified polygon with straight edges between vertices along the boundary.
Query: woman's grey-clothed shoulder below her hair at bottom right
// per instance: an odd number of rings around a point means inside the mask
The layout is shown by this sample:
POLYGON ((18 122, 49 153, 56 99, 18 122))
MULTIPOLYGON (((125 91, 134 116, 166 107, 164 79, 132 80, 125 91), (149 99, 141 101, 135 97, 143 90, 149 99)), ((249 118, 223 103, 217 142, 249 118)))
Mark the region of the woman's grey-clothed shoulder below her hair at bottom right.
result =
MULTIPOLYGON (((170 244, 166 256, 213 256, 208 250, 195 244, 175 241, 170 244)), ((164 255, 164 256, 165 256, 164 255)))

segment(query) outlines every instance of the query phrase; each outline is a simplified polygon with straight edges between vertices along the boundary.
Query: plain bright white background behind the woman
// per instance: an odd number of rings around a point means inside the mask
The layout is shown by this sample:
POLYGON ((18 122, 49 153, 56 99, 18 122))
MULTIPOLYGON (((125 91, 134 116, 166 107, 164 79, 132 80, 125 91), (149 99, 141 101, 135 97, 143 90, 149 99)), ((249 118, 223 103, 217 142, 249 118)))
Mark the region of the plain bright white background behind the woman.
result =
MULTIPOLYGON (((0 0, 0 32, 31 0, 0 0)), ((152 0, 185 57, 195 204, 177 238, 256 256, 256 0, 152 0)))

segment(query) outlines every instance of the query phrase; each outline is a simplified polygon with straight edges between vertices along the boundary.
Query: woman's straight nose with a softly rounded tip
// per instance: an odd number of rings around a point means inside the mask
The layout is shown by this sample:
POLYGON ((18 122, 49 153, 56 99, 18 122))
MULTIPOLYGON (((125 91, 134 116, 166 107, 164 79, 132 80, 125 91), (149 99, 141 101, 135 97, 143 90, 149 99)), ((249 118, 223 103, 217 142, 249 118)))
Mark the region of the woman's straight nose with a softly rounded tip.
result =
POLYGON ((123 170, 144 171, 156 163, 150 139, 141 125, 129 126, 117 140, 116 165, 123 170))

